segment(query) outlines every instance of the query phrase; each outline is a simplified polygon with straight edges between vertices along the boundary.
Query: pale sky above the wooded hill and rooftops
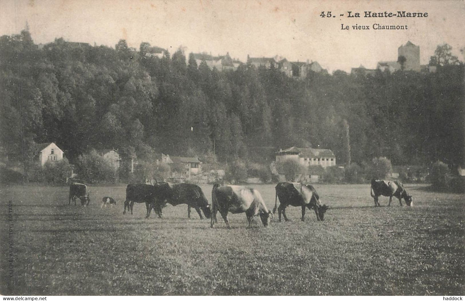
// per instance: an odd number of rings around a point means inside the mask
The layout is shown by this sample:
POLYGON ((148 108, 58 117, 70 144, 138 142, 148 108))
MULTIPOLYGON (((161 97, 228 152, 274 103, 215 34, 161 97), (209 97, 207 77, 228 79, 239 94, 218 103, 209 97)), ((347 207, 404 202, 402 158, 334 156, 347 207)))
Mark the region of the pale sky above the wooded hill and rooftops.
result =
POLYGON ((0 35, 19 33, 28 22, 36 44, 67 41, 114 47, 121 38, 189 52, 226 54, 246 61, 280 55, 289 61, 318 61, 323 68, 350 71, 360 64, 396 61, 397 48, 411 41, 427 64, 437 45, 448 43, 462 61, 463 0, 0 0, 0 35), (331 11, 335 18, 321 18, 331 11), (347 11, 361 18, 347 18, 347 11), (364 11, 422 12, 426 18, 363 18, 364 11), (344 14, 340 17, 340 14, 344 14), (374 30, 406 25, 407 30, 374 30), (370 30, 341 30, 367 25, 370 30))

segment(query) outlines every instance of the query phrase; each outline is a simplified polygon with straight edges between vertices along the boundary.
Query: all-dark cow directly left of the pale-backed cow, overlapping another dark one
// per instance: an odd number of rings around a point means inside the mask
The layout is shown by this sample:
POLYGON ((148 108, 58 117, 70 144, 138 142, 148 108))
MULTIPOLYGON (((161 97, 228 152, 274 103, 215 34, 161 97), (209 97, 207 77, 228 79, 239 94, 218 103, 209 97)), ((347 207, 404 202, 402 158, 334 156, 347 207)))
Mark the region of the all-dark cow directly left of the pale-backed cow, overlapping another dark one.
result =
MULTIPOLYGON (((156 202, 153 204, 155 213, 161 218, 161 208, 166 204, 173 206, 180 204, 187 204, 187 218, 191 218, 191 207, 197 211, 200 219, 203 219, 200 209, 203 211, 206 218, 210 218, 211 207, 205 198, 202 189, 195 184, 171 184, 171 183, 159 183, 156 187, 156 202)), ((150 210, 149 213, 150 215, 150 210)))

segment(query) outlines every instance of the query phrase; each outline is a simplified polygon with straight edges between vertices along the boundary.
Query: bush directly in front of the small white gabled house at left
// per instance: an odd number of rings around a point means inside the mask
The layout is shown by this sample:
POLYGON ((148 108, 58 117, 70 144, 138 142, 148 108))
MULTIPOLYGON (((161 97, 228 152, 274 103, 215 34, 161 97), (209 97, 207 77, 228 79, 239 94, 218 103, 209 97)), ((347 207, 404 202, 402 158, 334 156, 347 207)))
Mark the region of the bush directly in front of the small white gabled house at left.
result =
POLYGON ((48 183, 48 184, 65 184, 66 179, 71 177, 73 165, 68 159, 52 162, 46 161, 44 166, 34 165, 29 170, 29 180, 31 182, 48 183))

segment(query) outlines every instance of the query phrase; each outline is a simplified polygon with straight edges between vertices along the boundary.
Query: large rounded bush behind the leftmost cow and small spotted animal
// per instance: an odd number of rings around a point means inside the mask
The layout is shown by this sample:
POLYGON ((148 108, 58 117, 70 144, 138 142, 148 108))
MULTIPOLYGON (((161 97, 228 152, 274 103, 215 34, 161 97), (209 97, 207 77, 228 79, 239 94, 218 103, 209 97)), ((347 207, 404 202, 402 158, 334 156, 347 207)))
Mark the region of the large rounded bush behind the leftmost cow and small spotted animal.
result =
POLYGON ((76 164, 76 173, 80 179, 88 183, 112 182, 116 171, 109 160, 103 158, 95 150, 80 155, 76 164))

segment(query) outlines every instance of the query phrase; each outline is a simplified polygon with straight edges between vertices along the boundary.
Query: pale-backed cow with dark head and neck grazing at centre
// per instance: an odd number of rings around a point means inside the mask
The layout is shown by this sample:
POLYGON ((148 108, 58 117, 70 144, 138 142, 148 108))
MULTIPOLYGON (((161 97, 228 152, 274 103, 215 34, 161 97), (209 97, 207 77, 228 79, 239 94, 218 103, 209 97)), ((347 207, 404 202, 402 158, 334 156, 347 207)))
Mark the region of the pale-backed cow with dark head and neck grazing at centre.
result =
POLYGON ((216 212, 219 211, 225 220, 228 229, 231 228, 228 221, 228 212, 246 213, 249 226, 251 227, 252 218, 259 215, 263 225, 266 227, 270 223, 273 213, 266 209, 265 202, 258 190, 244 186, 213 185, 212 189, 212 217, 210 227, 213 228, 216 220, 216 212))

